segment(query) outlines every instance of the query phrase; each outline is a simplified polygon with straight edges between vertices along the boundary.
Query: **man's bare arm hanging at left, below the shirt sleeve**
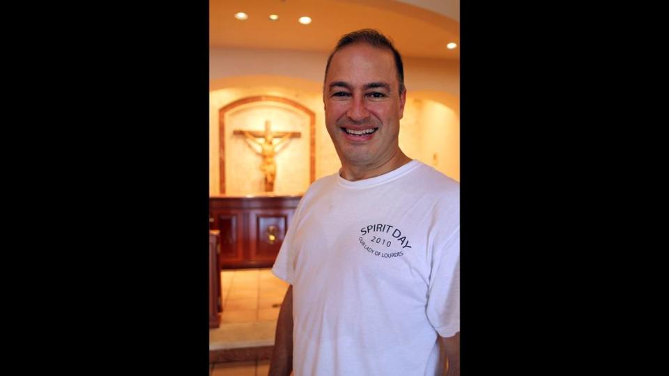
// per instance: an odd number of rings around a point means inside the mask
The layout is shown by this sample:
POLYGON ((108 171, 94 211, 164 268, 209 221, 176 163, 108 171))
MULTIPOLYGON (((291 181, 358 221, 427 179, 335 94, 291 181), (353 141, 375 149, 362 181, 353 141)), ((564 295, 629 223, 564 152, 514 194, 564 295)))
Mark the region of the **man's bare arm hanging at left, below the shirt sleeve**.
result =
MULTIPOLYGON (((288 376, 293 370, 293 286, 289 286, 279 310, 270 376, 288 376)), ((459 374, 458 374, 459 375, 459 374)))

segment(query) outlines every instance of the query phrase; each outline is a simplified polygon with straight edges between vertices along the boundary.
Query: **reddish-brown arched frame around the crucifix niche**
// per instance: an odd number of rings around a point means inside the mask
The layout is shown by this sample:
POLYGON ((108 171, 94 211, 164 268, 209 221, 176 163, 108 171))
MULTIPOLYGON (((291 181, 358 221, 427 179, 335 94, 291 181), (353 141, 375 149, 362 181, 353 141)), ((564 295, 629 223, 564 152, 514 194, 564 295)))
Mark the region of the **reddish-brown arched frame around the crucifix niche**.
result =
POLYGON ((218 110, 220 194, 225 194, 225 114, 236 107, 253 102, 279 102, 289 104, 309 116, 309 182, 314 182, 314 180, 316 180, 316 113, 304 105, 288 98, 277 97, 275 95, 257 95, 254 97, 241 98, 226 104, 218 110))

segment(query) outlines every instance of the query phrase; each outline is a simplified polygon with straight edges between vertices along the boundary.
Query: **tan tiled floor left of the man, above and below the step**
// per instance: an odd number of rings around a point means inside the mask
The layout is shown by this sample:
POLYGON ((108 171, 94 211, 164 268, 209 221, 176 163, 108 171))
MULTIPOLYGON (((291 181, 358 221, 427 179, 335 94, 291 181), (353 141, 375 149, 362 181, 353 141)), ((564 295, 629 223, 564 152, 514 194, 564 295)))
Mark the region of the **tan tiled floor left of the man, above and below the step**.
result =
MULTIPOLYGON (((221 325, 209 329, 209 348, 273 345, 279 308, 288 286, 270 269, 221 272, 221 325)), ((211 363, 210 375, 264 376, 269 366, 268 360, 211 363)))

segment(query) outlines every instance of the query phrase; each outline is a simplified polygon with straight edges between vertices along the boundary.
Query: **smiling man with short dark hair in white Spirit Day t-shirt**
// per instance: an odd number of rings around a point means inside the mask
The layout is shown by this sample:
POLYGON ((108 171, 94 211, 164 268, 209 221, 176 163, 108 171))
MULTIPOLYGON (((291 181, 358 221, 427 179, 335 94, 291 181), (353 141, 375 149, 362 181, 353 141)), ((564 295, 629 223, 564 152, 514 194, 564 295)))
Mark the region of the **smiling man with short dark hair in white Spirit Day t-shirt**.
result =
POLYGON ((339 40, 323 103, 341 169, 309 187, 272 268, 291 286, 270 375, 460 373, 459 184, 400 150, 405 102, 385 36, 339 40))

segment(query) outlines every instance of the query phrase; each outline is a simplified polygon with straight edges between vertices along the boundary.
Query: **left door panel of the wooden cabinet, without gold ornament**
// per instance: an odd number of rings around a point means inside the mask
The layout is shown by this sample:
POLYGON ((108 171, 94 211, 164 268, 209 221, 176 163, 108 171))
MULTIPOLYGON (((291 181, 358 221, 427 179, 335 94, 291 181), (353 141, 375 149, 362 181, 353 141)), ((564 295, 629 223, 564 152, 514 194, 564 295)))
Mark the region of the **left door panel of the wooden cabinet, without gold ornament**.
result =
POLYGON ((241 210, 214 210, 213 227, 220 231, 221 268, 244 260, 244 214, 241 210))

